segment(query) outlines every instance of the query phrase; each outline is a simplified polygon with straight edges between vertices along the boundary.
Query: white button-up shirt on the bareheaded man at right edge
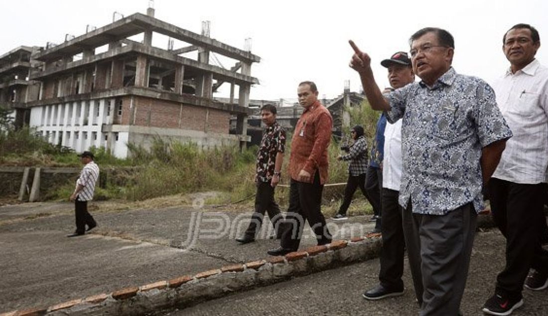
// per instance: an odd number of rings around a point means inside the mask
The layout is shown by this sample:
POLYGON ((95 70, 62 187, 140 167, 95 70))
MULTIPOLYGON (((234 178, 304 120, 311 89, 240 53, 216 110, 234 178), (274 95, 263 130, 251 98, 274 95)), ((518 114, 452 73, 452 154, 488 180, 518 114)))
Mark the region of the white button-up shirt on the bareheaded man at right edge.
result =
POLYGON ((513 137, 494 178, 521 184, 548 182, 548 67, 533 60, 493 83, 496 103, 513 137))

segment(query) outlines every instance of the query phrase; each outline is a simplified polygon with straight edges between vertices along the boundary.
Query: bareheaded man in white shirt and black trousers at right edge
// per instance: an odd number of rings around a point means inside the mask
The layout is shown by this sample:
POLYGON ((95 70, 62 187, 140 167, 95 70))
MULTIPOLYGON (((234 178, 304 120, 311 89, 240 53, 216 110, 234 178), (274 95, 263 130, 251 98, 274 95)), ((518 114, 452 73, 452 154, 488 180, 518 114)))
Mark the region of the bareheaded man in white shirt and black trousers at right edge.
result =
POLYGON ((548 68, 535 59, 539 47, 534 27, 512 26, 503 38, 510 68, 493 85, 513 133, 488 183, 492 215, 506 238, 506 267, 483 306, 493 315, 522 306, 524 284, 532 290, 548 287, 548 252, 540 244, 548 180, 548 68))

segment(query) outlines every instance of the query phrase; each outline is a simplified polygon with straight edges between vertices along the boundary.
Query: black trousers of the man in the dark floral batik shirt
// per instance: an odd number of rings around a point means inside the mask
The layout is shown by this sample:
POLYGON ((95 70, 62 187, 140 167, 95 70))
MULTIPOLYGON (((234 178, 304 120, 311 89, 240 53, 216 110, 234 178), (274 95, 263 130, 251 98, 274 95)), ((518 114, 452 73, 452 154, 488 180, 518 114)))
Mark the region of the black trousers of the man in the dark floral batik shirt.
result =
POLYGON ((259 233, 262 224, 262 218, 265 216, 265 212, 268 213, 270 222, 278 234, 279 220, 282 218, 282 214, 279 211, 279 206, 274 200, 274 189, 269 182, 257 182, 257 193, 255 195, 255 212, 251 216, 251 222, 244 233, 249 238, 255 238, 259 233))

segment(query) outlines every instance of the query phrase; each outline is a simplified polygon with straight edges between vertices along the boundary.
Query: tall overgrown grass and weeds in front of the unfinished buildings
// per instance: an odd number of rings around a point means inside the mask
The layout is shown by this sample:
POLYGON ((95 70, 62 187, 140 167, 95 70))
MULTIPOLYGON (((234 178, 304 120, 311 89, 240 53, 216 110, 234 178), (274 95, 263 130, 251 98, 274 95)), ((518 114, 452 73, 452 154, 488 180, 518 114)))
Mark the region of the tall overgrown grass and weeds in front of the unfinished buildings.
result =
MULTIPOLYGON (((361 106, 347 109, 350 112, 350 126, 360 124, 366 131, 370 148, 374 136, 379 112, 370 109, 367 102, 361 106)), ((349 131, 350 127, 344 130, 349 131)), ((291 150, 291 141, 287 140, 286 155, 282 167, 281 184, 289 184, 287 164, 291 150)), ((328 183, 346 183, 347 163, 337 160, 340 144, 333 140, 329 146, 328 183)), ((134 166, 133 172, 117 175, 109 179, 105 188, 97 187, 96 200, 124 199, 142 201, 159 196, 193 193, 215 190, 227 193, 210 200, 215 204, 241 201, 255 194, 255 157, 258 148, 252 146, 241 153, 237 146, 222 146, 214 149, 202 149, 197 144, 181 144, 161 138, 152 141, 150 149, 128 144, 130 159, 117 159, 104 148, 91 148, 95 161, 106 170, 109 166, 134 166)), ((75 166, 81 163, 74 151, 54 146, 28 128, 19 131, 0 133, 0 164, 18 166, 75 166)), ((325 187, 323 200, 326 213, 334 213, 344 195, 345 185, 325 187)), ((66 199, 74 190, 74 183, 67 183, 48 192, 45 199, 66 199)), ((361 193, 358 192, 361 195, 361 193)), ((281 205, 287 205, 289 190, 279 187, 276 199, 281 205)), ((253 204, 253 199, 247 201, 253 204)), ((351 206, 367 212, 367 203, 357 202, 351 206)))

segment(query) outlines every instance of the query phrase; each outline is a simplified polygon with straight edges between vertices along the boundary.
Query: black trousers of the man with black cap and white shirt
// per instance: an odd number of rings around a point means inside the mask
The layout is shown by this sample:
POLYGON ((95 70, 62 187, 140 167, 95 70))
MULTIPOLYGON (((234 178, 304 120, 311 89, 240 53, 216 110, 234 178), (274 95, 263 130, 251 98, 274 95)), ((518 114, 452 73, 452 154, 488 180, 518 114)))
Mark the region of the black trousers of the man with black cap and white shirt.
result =
POLYGON ((402 226, 402 207, 399 191, 383 188, 381 232, 383 248, 380 253, 379 281, 386 289, 403 290, 403 252, 405 240, 402 226))

